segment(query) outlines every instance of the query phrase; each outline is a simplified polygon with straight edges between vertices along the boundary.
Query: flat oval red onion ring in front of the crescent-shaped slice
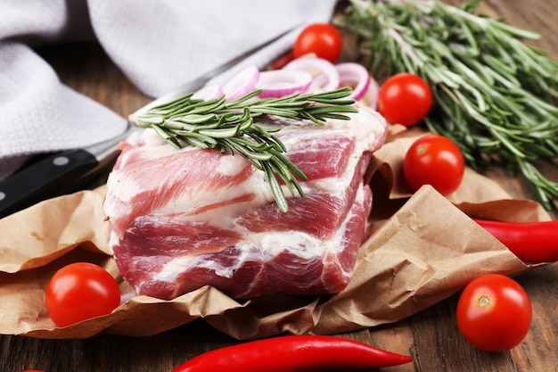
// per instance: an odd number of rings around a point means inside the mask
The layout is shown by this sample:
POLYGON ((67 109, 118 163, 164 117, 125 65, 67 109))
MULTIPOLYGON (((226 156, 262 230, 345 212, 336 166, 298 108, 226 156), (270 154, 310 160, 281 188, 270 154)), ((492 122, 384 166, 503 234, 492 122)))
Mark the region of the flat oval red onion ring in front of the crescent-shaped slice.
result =
POLYGON ((304 93, 312 83, 312 75, 303 70, 268 70, 259 73, 257 89, 262 89, 261 98, 283 97, 304 93))

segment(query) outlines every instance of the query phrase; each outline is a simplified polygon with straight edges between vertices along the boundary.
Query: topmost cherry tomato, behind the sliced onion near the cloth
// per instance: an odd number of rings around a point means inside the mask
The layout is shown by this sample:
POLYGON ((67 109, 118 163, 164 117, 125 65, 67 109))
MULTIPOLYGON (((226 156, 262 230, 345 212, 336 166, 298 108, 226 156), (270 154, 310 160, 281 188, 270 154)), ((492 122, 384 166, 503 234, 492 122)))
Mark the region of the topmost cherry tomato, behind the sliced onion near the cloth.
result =
POLYGON ((335 62, 341 55, 343 38, 330 23, 313 23, 299 34, 292 48, 294 58, 305 54, 316 54, 329 62, 335 62))

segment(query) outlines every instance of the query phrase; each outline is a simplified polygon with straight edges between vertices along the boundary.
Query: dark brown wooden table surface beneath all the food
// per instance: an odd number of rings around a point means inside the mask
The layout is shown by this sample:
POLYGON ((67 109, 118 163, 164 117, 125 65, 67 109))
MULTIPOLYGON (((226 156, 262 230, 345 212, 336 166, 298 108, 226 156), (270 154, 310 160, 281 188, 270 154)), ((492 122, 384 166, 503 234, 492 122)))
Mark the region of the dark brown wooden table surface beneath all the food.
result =
MULTIPOLYGON (((550 51, 554 58, 558 56, 555 28, 558 6, 554 0, 489 0, 481 4, 480 11, 504 16, 510 24, 541 33, 544 38, 533 44, 550 51)), ((41 53, 64 83, 123 116, 150 101, 127 81, 98 45, 57 45, 41 53)), ((558 171, 554 174, 558 179, 558 171)), ((535 197, 525 182, 508 178, 502 169, 491 169, 488 175, 515 197, 535 197)), ((552 214, 558 219, 555 211, 552 214)), ((464 341, 455 326, 458 294, 397 324, 343 336, 414 356, 413 364, 385 368, 386 371, 556 371, 558 265, 533 269, 517 280, 529 293, 534 318, 529 335, 512 351, 490 354, 464 341)), ((1 335, 0 366, 4 372, 26 368, 48 372, 162 372, 202 351, 231 343, 235 341, 203 320, 161 335, 140 338, 103 335, 86 340, 40 340, 1 335)))

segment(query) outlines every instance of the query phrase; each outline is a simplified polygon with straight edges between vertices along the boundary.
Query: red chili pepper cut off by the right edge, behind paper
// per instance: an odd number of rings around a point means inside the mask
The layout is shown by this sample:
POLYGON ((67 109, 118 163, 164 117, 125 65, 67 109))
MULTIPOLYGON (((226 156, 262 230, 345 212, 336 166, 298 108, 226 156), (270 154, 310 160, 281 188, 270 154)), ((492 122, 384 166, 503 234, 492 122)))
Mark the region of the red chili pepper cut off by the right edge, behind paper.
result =
POLYGON ((523 262, 545 263, 558 260, 558 220, 541 222, 502 222, 475 219, 523 262))

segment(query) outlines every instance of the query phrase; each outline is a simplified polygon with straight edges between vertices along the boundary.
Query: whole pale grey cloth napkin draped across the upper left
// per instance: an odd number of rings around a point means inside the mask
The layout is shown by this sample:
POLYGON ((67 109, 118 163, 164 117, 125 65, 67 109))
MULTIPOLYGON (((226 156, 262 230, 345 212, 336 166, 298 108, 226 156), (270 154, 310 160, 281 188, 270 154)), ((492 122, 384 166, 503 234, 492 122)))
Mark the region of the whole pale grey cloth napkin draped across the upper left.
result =
MULTIPOLYGON (((65 87, 34 48, 96 40, 146 95, 164 95, 291 29, 239 65, 274 60, 335 0, 2 0, 0 179, 37 153, 93 145, 127 121, 65 87)), ((221 82, 234 70, 210 83, 221 82)))

